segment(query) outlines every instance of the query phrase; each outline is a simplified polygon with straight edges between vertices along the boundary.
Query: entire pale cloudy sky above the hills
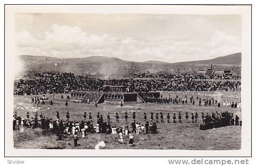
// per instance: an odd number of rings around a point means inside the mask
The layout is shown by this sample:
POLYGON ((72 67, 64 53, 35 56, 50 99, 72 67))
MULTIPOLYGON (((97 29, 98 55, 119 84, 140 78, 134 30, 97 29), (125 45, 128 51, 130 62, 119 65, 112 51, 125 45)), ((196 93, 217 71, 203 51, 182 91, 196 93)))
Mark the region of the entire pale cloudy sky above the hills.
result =
POLYGON ((183 62, 241 52, 241 15, 15 14, 17 55, 183 62))

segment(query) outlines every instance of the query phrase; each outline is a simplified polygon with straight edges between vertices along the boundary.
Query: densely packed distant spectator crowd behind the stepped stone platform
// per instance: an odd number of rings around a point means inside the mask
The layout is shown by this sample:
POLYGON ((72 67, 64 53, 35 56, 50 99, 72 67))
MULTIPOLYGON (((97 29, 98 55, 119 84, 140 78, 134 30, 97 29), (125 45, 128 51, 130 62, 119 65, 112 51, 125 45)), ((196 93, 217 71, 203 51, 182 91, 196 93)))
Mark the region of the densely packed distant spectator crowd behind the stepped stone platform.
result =
MULTIPOLYGON (((136 76, 165 77, 168 80, 112 79, 102 80, 75 76, 73 73, 37 73, 31 79, 14 82, 14 95, 70 93, 72 91, 101 91, 104 85, 126 86, 129 92, 149 91, 241 91, 241 82, 193 81, 208 78, 201 75, 142 74, 136 76)), ((229 76, 228 78, 237 78, 229 76)))

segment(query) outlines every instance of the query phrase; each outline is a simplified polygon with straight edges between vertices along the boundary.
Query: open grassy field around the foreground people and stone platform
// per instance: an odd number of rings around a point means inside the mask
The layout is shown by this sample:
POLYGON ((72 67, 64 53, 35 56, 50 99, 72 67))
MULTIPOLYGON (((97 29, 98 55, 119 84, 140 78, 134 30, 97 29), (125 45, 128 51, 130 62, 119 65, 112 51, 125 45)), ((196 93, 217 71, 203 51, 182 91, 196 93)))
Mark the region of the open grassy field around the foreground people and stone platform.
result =
MULTIPOLYGON (((209 92, 208 92, 209 93, 209 92)), ((215 93, 215 92, 211 92, 215 93)), ((228 94, 235 93, 240 96, 239 92, 226 92, 228 94)), ((171 97, 175 97, 178 94, 179 97, 184 97, 182 93, 165 92, 163 96, 170 94, 171 97)), ((45 132, 41 129, 24 128, 22 131, 14 131, 14 146, 15 148, 39 148, 39 149, 94 149, 95 145, 99 141, 105 142, 105 147, 101 149, 187 149, 187 150, 234 150, 241 148, 241 126, 226 126, 217 129, 211 129, 206 131, 199 130, 199 124, 186 124, 185 112, 188 111, 189 118, 191 112, 197 112, 200 122, 201 112, 211 113, 212 111, 228 110, 234 112, 234 115, 241 117, 240 108, 230 108, 222 106, 222 100, 228 98, 215 98, 220 101, 221 107, 217 105, 213 106, 198 106, 198 100, 195 101, 195 105, 191 105, 189 100, 188 104, 135 104, 125 103, 123 107, 120 107, 120 103, 103 103, 98 104, 96 108, 94 104, 79 104, 68 101, 68 107, 65 106, 67 94, 63 94, 64 98, 60 98, 60 94, 55 95, 56 99, 53 101, 53 106, 50 110, 46 108, 50 106, 50 100, 45 102, 42 106, 42 110, 38 111, 38 115, 42 111, 43 115, 48 118, 56 118, 56 111, 60 112, 60 119, 66 120, 66 113, 69 111, 70 120, 81 121, 83 120, 83 112, 87 114, 91 112, 93 118, 93 124, 97 122, 96 114, 100 112, 106 120, 106 115, 110 112, 111 126, 121 126, 124 124, 124 112, 128 112, 128 124, 131 131, 130 124, 132 122, 132 112, 136 111, 136 121, 144 124, 143 113, 147 112, 147 118, 150 118, 150 113, 154 115, 159 112, 163 112, 165 123, 158 123, 158 134, 146 134, 146 135, 134 135, 135 146, 130 147, 128 145, 128 136, 124 136, 125 145, 116 144, 118 135, 112 134, 91 134, 89 133, 85 139, 82 139, 81 133, 79 133, 79 140, 77 147, 74 147, 72 136, 64 138, 63 140, 56 141, 56 136, 51 132, 45 132), (170 113, 171 119, 173 112, 178 115, 179 111, 182 115, 182 124, 173 124, 166 122, 167 112, 170 113), (120 123, 115 122, 115 112, 119 112, 120 123)), ((191 95, 187 95, 188 98, 191 95)), ((195 95, 193 95, 196 97, 195 95)), ((15 96, 14 97, 14 112, 17 111, 18 116, 26 118, 26 112, 30 112, 30 117, 34 117, 35 111, 30 104, 30 98, 34 96, 15 96), (17 110, 17 106, 23 106, 25 109, 17 110), (27 109, 26 109, 27 108, 27 109)), ((41 96, 38 95, 39 98, 41 96)), ((49 99, 53 99, 53 95, 46 95, 49 99)), ((198 96, 206 98, 204 96, 198 96)), ((214 99, 214 100, 215 100, 214 99)), ((232 100, 232 99, 230 99, 232 100)), ((239 100, 238 100, 239 101, 239 100)), ((89 118, 89 116, 88 116, 89 118)))

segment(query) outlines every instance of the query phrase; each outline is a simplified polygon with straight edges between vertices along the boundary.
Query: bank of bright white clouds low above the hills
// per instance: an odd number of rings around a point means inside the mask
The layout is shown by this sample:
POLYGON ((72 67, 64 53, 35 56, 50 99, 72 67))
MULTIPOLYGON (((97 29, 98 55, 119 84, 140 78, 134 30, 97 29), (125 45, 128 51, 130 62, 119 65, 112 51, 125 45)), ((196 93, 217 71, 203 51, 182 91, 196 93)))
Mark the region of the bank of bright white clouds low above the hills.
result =
POLYGON ((182 62, 210 59, 241 51, 238 37, 214 31, 208 43, 195 38, 165 36, 138 40, 135 37, 117 38, 108 34, 96 35, 82 28, 53 24, 40 38, 28 31, 16 34, 18 55, 55 57, 108 56, 128 61, 182 62), (199 57, 199 59, 198 59, 199 57), (197 59, 195 59, 197 58, 197 59))

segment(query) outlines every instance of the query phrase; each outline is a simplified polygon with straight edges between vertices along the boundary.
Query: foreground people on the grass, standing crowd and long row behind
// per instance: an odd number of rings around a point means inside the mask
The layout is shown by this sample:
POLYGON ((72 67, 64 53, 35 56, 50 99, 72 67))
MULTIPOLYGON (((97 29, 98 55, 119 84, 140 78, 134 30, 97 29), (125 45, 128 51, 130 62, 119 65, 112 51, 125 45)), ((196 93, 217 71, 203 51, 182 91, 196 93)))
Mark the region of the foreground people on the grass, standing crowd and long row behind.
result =
MULTIPOLYGON (((37 97, 35 98, 35 100, 37 101, 37 97)), ((52 105, 52 103, 53 102, 51 101, 50 104, 52 105)), ((18 106, 17 109, 19 110, 24 108, 23 106, 18 106)), ((39 114, 38 118, 38 111, 36 111, 34 116, 31 116, 30 112, 27 112, 26 118, 21 118, 20 116, 18 116, 16 111, 15 115, 13 116, 13 130, 22 130, 23 127, 28 127, 32 129, 42 128, 43 130, 56 133, 57 140, 67 138, 70 135, 74 138, 75 146, 77 146, 79 133, 81 133, 82 138, 85 138, 85 136, 89 133, 117 134, 117 143, 120 143, 122 145, 124 144, 123 137, 125 135, 128 135, 129 145, 133 146, 133 134, 158 134, 157 125, 161 123, 221 123, 223 124, 223 126, 239 124, 241 125, 241 118, 239 118, 237 115, 234 117, 233 113, 228 111, 216 111, 211 112, 211 114, 208 112, 206 114, 201 112, 200 115, 197 112, 192 112, 191 114, 188 114, 188 112, 186 112, 185 115, 181 115, 181 112, 179 112, 177 115, 176 112, 168 112, 166 115, 163 112, 155 114, 153 112, 144 112, 143 122, 137 122, 136 111, 133 111, 132 114, 128 114, 128 112, 125 112, 123 115, 120 115, 120 113, 118 112, 114 114, 108 112, 105 118, 103 118, 103 115, 101 115, 99 112, 97 113, 95 118, 93 118, 91 112, 89 112, 89 114, 87 114, 87 112, 84 112, 83 115, 81 115, 81 118, 83 118, 83 120, 81 121, 73 119, 71 120, 71 117, 72 116, 68 111, 66 114, 66 119, 62 120, 60 119, 59 111, 56 111, 56 119, 45 117, 42 112, 39 114), (122 118, 123 123, 121 123, 121 125, 111 125, 114 121, 116 122, 115 124, 119 124, 122 121, 122 118), (128 125, 129 122, 131 122, 130 125, 128 125)))

